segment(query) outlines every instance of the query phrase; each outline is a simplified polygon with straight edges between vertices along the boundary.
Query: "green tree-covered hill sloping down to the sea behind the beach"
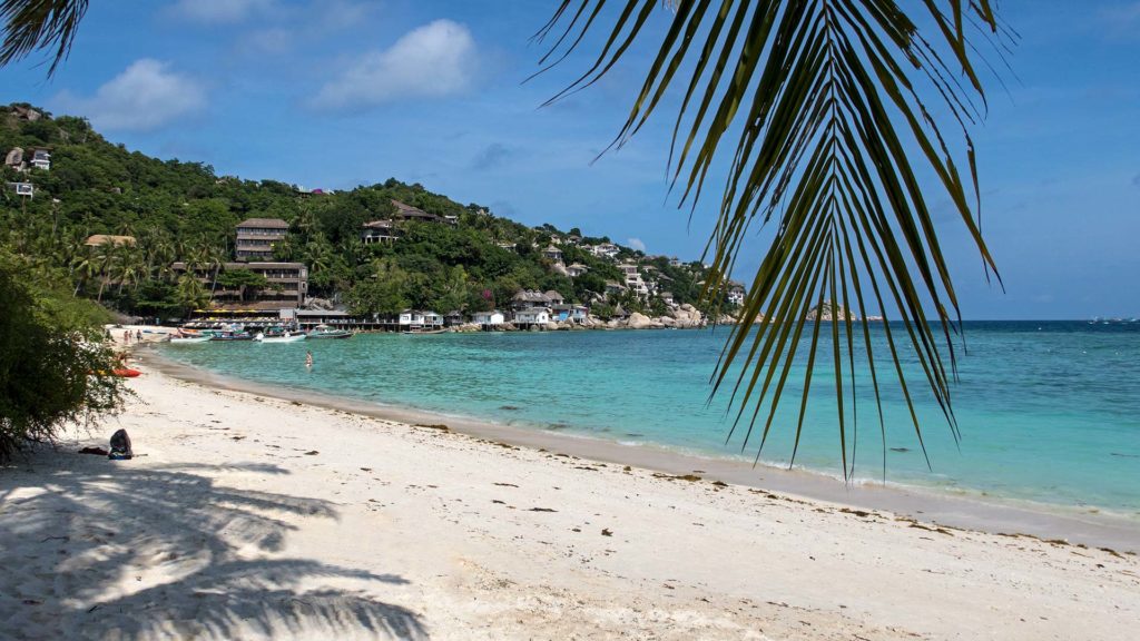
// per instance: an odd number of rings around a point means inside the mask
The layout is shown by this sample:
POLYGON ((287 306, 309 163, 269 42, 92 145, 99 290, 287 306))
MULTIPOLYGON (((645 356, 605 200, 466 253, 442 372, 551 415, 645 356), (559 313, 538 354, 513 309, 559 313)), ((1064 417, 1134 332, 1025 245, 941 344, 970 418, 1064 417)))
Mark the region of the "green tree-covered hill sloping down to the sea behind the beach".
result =
POLYGON ((657 292, 668 291, 678 305, 697 305, 703 281, 699 263, 678 265, 621 246, 617 255, 594 255, 588 248, 609 238, 549 225, 527 227, 418 184, 389 179, 307 193, 272 180, 217 176, 203 163, 130 152, 83 119, 52 117, 27 104, 0 107, 0 155, 16 148, 24 169, 2 169, 0 243, 15 253, 50 257, 78 295, 128 314, 177 316, 204 305, 209 290, 179 277, 171 265, 186 261, 221 271, 234 259, 235 227, 247 218, 288 222, 288 236, 274 258, 309 267, 310 297, 361 313, 417 307, 470 314, 503 306, 519 290, 555 290, 568 302, 594 305, 603 316, 618 305, 654 311, 663 306, 659 295, 605 293, 608 281, 624 282, 619 263, 638 265, 657 292), (50 169, 28 164, 36 148, 50 154, 50 169), (32 184, 34 196, 17 195, 17 182, 32 184), (400 221, 399 241, 363 244, 361 226, 392 217, 392 201, 454 217, 456 224, 400 221), (88 246, 92 234, 137 242, 88 246), (561 266, 543 255, 552 237, 580 237, 559 246, 561 266), (587 273, 571 278, 564 266, 573 263, 587 273))

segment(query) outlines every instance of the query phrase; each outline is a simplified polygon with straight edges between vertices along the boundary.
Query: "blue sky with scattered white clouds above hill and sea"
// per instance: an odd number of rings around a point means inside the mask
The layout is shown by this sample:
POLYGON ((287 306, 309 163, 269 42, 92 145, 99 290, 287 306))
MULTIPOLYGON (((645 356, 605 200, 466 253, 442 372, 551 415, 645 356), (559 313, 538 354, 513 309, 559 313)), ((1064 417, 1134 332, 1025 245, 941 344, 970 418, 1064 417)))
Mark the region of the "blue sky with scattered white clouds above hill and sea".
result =
MULTIPOLYGON (((715 202, 690 221, 667 198, 667 112, 591 162, 620 127, 649 52, 552 107, 538 108, 585 56, 522 83, 545 50, 529 36, 553 6, 96 1, 57 75, 46 80, 38 60, 0 70, 0 102, 83 115, 129 148, 223 175, 310 188, 396 177, 522 222, 697 258, 715 202)), ((985 79, 990 112, 975 141, 1005 292, 947 221, 963 315, 1140 316, 1140 1, 1001 9, 1021 39, 1000 74, 1005 88, 985 79)), ((663 29, 668 14, 654 21, 663 29)), ((751 242, 739 277, 749 279, 768 237, 751 242)))

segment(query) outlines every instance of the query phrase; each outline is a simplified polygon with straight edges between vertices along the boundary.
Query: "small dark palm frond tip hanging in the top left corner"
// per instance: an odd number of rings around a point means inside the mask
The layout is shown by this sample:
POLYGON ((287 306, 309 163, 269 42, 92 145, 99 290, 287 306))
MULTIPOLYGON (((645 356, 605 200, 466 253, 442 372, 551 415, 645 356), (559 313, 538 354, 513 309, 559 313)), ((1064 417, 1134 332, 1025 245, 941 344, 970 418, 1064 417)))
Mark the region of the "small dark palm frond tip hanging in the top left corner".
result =
POLYGON ((0 0, 0 66, 22 60, 32 52, 55 49, 48 75, 67 59, 88 0, 0 0))

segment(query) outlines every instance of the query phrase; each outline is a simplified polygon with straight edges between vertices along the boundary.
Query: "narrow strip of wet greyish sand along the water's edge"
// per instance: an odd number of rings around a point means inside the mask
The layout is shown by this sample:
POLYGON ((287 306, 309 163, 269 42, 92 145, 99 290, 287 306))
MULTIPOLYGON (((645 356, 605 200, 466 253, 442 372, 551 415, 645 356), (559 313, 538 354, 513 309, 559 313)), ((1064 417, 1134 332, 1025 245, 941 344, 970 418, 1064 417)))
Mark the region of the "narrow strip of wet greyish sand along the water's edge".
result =
MULTIPOLYGON (((148 346, 150 347, 150 346, 148 346)), ((994 497, 954 496, 935 488, 877 482, 845 484, 825 473, 782 469, 687 454, 654 444, 624 445, 602 438, 505 425, 487 420, 382 405, 314 390, 278 388, 192 367, 152 349, 132 350, 142 363, 186 382, 227 391, 396 421, 408 425, 440 424, 453 431, 538 452, 554 452, 603 463, 632 465, 675 478, 719 481, 860 510, 878 510, 938 527, 995 535, 1029 536, 1119 552, 1140 553, 1140 520, 1106 513, 1070 513, 1062 505, 994 497)))

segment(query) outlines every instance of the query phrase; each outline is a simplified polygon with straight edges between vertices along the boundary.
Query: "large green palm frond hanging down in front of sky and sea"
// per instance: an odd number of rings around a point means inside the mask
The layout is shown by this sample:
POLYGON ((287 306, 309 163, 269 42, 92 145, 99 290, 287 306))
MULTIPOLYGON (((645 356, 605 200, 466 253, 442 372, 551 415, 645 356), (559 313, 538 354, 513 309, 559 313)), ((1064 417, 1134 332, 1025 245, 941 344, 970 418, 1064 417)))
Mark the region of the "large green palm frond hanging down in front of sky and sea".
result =
MULTIPOLYGON (((711 255, 706 295, 717 292, 733 273, 744 240, 755 232, 754 222, 764 226, 774 220, 775 237, 711 379, 714 395, 731 387, 735 421, 728 438, 747 425, 743 448, 759 428, 759 457, 783 390, 800 362, 804 380, 795 460, 823 347, 830 349, 834 368, 844 472, 853 473, 858 433, 856 358, 866 359, 880 430, 886 429, 882 357, 872 346, 866 320, 879 315, 894 378, 923 453, 904 349, 913 352, 956 440, 951 381, 956 376, 953 334, 961 315, 930 210, 930 186, 920 175, 933 173, 938 196, 948 197, 987 274, 992 269, 996 275, 979 229, 969 128, 985 113, 977 64, 990 64, 976 41, 996 42, 993 49, 1003 57, 1005 42, 1013 39, 1011 30, 999 23, 990 0, 912 2, 909 11, 922 14, 918 17, 929 34, 893 0, 669 5, 671 22, 658 35, 659 30, 648 27, 656 0, 563 0, 536 38, 556 34, 544 63, 561 60, 593 25, 605 22, 598 16, 606 8, 617 16, 593 64, 552 100, 596 82, 638 36, 660 38, 611 147, 634 136, 670 89, 683 89, 668 160, 670 188, 682 187, 679 205, 695 208, 714 163, 728 164, 719 214, 706 246, 706 255, 711 255), (573 17, 568 21, 568 16, 573 17), (945 116, 931 115, 927 96, 938 100, 945 116), (961 132, 956 147, 943 136, 940 124, 946 123, 961 132), (960 167, 967 168, 964 177, 960 167), (813 306, 821 310, 826 301, 842 310, 854 303, 857 319, 840 314, 824 332, 822 320, 812 323, 807 316, 813 306), (864 357, 857 356, 856 342, 862 343, 864 357), (734 364, 743 365, 739 373, 734 364), (845 390, 850 406, 845 405, 845 390)), ((885 451, 883 445, 883 461, 885 451)))

